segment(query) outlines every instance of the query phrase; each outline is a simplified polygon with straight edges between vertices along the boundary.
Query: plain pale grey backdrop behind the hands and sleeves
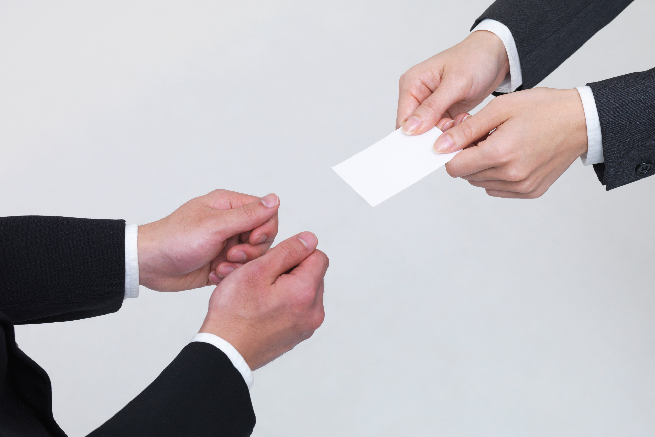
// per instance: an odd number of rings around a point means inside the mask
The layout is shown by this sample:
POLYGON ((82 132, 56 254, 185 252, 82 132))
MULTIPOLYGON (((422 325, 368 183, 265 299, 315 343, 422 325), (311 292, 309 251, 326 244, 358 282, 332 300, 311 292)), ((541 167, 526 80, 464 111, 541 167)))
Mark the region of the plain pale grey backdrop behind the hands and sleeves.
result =
MULTIPOLYGON (((0 4, 0 215, 144 224, 227 188, 280 196, 278 241, 318 235, 326 321, 255 372, 253 436, 655 433, 655 177, 605 192, 577 161, 503 200, 441 168, 372 208, 330 169, 488 0, 0 4)), ((655 66, 654 14, 635 1, 541 85, 655 66)), ((159 374, 211 291, 16 328, 69 436, 159 374)))

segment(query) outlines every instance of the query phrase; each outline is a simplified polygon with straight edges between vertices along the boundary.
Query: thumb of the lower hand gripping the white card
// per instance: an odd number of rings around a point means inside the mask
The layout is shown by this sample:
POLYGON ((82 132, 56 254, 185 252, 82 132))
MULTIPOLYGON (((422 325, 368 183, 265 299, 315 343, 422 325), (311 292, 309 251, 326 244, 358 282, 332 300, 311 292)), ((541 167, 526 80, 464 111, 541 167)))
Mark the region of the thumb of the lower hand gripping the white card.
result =
POLYGON ((460 124, 442 133, 432 147, 437 153, 450 153, 464 149, 503 124, 509 118, 489 103, 475 115, 466 117, 460 124))

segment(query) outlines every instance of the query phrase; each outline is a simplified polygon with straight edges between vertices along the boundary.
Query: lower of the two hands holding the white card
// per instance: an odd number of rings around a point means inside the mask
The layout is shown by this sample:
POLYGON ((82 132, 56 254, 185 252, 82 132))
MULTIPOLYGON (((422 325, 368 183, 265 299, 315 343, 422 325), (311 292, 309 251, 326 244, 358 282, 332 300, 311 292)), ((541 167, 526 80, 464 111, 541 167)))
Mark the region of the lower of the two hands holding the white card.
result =
POLYGON ((485 188, 489 196, 538 198, 587 152, 587 124, 577 90, 517 91, 496 97, 473 116, 455 118, 463 121, 447 129, 434 150, 466 148, 446 164, 446 171, 485 188))

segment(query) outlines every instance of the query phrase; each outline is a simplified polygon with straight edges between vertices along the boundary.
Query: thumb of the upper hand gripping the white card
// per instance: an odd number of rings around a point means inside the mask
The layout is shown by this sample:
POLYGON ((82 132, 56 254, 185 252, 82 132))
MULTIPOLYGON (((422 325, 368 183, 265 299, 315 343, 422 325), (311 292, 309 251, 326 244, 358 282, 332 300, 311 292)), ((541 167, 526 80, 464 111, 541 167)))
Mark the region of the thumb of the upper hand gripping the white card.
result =
POLYGON ((466 97, 461 82, 443 79, 436 90, 425 99, 414 113, 407 117, 402 131, 407 135, 419 135, 434 128, 445 111, 466 97))

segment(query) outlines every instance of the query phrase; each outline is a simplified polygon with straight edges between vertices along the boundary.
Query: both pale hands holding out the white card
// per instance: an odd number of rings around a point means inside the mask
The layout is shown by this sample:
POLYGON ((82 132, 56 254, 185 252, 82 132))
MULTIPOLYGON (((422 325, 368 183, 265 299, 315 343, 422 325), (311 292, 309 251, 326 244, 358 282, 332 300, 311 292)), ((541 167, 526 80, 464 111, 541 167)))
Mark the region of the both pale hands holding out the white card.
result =
POLYGON ((452 177, 490 196, 538 198, 587 152, 584 109, 577 90, 534 88, 496 97, 468 114, 508 71, 500 38, 476 31, 401 77, 396 126, 408 135, 437 126, 443 134, 436 152, 466 149, 446 164, 452 177), (450 76, 455 71, 457 80, 450 76))

